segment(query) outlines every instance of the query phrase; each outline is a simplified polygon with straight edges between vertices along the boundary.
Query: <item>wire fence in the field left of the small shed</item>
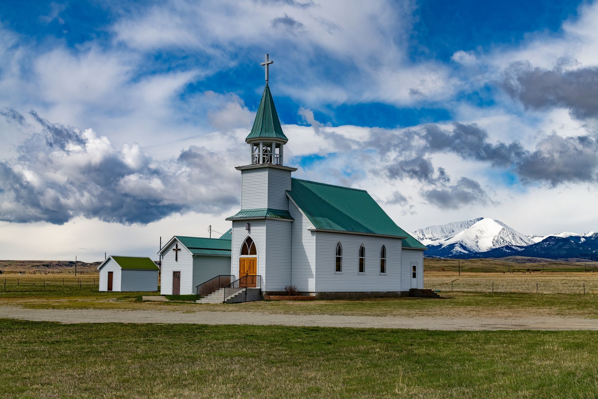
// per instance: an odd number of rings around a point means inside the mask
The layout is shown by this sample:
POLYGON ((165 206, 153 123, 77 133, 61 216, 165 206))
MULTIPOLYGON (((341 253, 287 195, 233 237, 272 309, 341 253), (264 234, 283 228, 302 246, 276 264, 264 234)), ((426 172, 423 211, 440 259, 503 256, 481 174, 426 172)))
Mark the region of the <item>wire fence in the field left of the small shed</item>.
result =
POLYGON ((0 280, 2 292, 65 291, 97 289, 97 278, 30 278, 7 277, 0 280))

